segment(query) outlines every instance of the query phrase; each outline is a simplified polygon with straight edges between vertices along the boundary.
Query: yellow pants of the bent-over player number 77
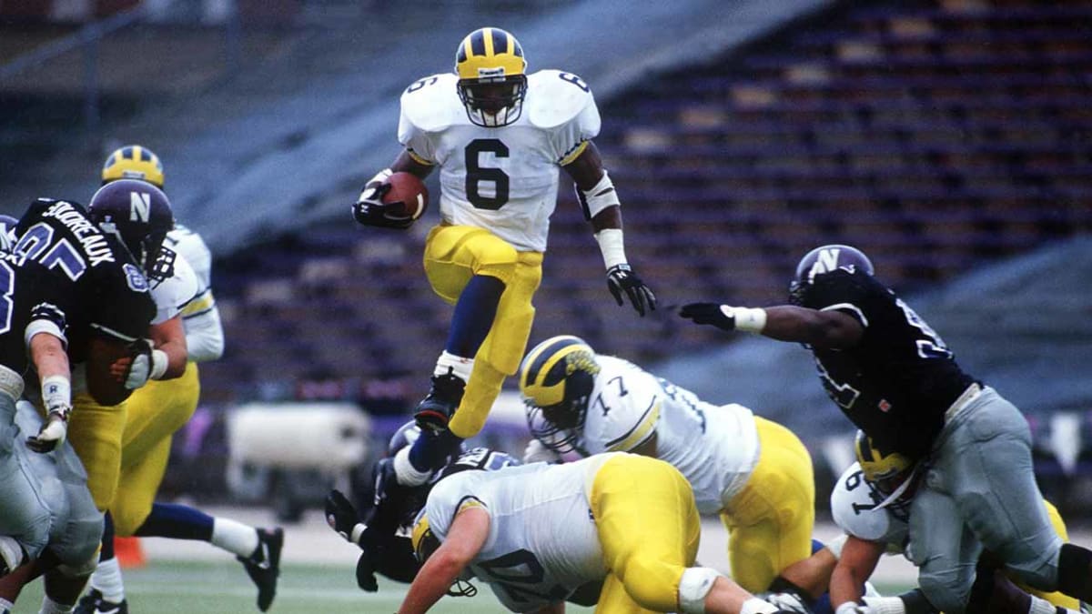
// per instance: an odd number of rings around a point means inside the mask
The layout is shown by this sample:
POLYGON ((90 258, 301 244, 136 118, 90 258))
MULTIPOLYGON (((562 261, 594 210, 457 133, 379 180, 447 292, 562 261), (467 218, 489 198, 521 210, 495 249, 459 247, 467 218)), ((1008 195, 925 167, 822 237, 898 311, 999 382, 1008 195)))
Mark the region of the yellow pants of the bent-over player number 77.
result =
POLYGON ((784 426, 755 416, 758 465, 728 501, 721 521, 728 530, 732 579, 761 592, 783 569, 811 555, 816 487, 811 454, 784 426))

